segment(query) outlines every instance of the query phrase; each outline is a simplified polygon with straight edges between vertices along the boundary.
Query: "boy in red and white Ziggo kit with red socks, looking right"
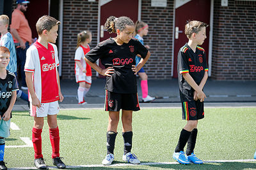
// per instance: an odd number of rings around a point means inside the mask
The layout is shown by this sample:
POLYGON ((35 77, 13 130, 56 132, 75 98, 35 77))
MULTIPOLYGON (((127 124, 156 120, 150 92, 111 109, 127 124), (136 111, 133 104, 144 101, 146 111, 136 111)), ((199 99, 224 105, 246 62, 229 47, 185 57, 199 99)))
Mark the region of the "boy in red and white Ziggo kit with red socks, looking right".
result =
POLYGON ((60 90, 58 50, 56 43, 60 21, 44 15, 36 22, 38 41, 26 53, 26 83, 29 90, 30 115, 34 117, 32 141, 35 150, 34 164, 38 169, 47 169, 42 155, 41 133, 44 117, 47 117, 52 145, 52 162, 58 168, 65 168, 60 159, 60 135, 57 124, 58 101, 63 101, 60 90))

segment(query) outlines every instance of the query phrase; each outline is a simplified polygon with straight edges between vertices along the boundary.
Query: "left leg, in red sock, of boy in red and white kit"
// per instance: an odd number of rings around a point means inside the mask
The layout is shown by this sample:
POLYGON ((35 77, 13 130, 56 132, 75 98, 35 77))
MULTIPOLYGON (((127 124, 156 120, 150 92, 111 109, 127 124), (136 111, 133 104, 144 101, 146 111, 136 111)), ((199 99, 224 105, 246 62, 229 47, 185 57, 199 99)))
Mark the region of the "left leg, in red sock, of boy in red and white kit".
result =
POLYGON ((44 127, 44 118, 35 117, 32 129, 32 142, 35 150, 35 159, 42 158, 42 129, 44 127))

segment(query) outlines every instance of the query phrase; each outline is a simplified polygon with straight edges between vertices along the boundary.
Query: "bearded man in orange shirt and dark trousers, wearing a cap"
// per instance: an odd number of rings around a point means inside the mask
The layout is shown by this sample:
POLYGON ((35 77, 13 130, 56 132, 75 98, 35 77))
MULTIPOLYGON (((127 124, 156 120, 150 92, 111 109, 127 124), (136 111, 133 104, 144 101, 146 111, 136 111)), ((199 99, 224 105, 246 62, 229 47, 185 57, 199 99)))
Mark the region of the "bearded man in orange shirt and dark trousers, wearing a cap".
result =
POLYGON ((26 62, 26 52, 29 45, 33 42, 32 32, 26 19, 24 12, 27 11, 29 1, 17 0, 17 7, 12 13, 12 24, 10 25, 10 32, 12 33, 15 43, 19 43, 16 48, 17 53, 17 67, 21 76, 21 89, 28 90, 26 85, 26 77, 24 66, 26 62))

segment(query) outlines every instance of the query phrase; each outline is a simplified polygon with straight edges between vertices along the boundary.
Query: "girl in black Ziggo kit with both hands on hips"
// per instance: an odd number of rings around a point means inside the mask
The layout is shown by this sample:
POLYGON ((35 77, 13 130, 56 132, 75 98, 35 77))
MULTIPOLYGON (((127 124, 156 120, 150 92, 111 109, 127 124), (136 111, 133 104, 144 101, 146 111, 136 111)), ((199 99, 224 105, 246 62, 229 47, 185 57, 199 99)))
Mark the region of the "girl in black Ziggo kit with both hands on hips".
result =
POLYGON ((97 72, 106 76, 105 111, 109 111, 107 129, 107 155, 102 164, 110 165, 114 160, 115 138, 122 109, 122 125, 124 138, 123 160, 131 164, 140 164, 140 160, 131 153, 132 148, 132 111, 140 110, 137 94, 136 74, 150 57, 150 52, 140 41, 132 38, 134 22, 128 17, 109 17, 104 25, 109 33, 116 33, 115 38, 102 41, 86 53, 84 59, 97 72), (136 65, 136 55, 141 55, 136 65), (97 66, 100 59, 106 69, 97 66))

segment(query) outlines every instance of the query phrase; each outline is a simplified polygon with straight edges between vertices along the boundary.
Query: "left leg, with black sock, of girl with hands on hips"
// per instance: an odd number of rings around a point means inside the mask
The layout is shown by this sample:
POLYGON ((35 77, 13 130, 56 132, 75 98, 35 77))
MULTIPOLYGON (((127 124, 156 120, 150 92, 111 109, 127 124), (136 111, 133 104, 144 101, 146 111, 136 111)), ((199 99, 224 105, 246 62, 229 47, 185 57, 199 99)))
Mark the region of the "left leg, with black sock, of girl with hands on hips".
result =
POLYGON ((117 126, 119 122, 119 111, 109 111, 107 129, 107 154, 114 154, 117 126))

